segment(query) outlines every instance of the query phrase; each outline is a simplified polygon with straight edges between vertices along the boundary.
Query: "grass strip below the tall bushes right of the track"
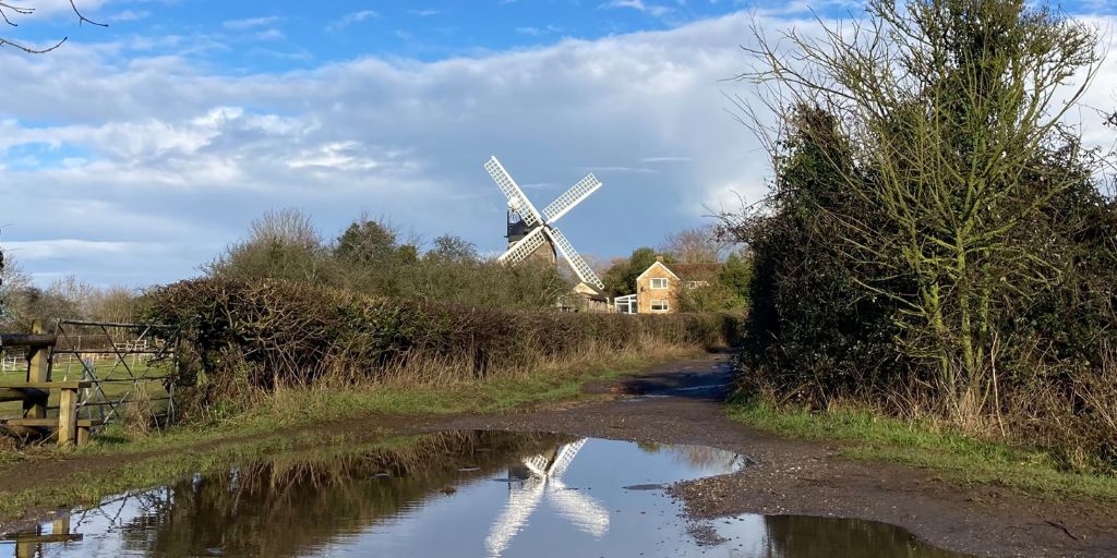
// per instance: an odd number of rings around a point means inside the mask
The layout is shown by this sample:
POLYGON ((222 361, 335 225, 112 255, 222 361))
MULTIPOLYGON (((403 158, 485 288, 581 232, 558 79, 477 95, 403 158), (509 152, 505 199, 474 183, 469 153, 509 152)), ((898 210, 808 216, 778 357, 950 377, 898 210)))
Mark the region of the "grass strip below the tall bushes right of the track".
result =
POLYGON ((734 403, 729 416, 787 437, 847 442, 849 459, 900 463, 936 471, 962 485, 990 484, 1059 498, 1117 502, 1117 478, 1060 470, 1048 453, 1004 441, 982 440, 929 422, 909 423, 866 408, 810 413, 763 402, 734 403))

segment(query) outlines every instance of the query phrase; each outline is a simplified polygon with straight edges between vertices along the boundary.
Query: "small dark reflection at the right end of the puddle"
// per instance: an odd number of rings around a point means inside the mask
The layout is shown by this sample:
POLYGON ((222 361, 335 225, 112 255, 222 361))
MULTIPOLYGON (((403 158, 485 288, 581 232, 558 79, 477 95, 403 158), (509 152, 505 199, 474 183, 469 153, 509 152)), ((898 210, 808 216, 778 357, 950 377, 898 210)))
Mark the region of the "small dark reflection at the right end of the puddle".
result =
POLYGON ((768 556, 772 558, 957 558, 960 555, 919 542, 899 527, 876 521, 800 516, 770 517, 768 556))

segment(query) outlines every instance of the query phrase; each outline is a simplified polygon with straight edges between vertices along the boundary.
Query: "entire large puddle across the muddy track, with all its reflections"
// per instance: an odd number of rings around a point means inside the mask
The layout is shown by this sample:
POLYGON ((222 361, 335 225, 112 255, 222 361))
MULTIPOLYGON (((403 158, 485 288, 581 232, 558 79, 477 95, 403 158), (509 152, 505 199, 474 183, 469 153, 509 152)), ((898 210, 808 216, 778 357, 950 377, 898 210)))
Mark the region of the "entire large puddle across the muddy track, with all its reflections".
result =
MULTIPOLYGON (((457 432, 330 449, 111 498, 0 556, 947 557, 840 519, 681 517, 662 488, 734 472, 720 450, 457 432)), ((17 541, 18 540, 18 541, 17 541)))

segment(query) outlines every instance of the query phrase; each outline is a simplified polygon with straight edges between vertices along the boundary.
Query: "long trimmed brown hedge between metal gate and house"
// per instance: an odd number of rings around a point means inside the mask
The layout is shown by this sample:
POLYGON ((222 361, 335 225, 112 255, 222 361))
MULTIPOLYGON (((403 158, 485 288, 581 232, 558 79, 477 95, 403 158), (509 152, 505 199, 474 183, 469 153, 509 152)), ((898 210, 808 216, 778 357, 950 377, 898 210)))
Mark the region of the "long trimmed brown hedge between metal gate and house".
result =
POLYGON ((728 315, 624 316, 432 305, 265 279, 197 279, 147 295, 153 321, 178 326, 199 372, 256 387, 405 374, 430 363, 461 378, 514 373, 592 350, 648 344, 723 347, 728 315))

